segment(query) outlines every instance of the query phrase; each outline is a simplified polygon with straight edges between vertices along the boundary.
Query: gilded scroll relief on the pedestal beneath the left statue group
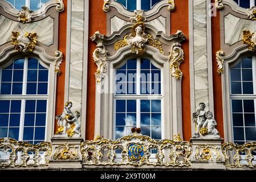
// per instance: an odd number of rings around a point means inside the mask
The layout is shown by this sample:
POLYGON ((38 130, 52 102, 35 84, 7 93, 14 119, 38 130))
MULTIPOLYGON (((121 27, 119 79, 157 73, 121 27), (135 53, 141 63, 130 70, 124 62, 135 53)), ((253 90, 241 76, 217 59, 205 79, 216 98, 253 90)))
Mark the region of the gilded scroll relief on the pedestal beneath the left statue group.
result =
POLYGON ((74 146, 71 144, 62 144, 60 146, 55 147, 55 153, 52 156, 54 160, 74 160, 79 159, 78 155, 78 146, 74 146))

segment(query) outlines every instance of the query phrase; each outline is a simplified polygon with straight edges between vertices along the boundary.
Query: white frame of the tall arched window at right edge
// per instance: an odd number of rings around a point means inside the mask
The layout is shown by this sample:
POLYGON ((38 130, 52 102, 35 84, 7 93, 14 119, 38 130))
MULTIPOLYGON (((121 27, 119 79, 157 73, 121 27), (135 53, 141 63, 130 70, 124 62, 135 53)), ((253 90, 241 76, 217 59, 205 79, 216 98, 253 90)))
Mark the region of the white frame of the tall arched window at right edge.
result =
MULTIPOLYGON (((241 65, 241 68, 242 65, 241 65)), ((246 55, 246 56, 240 56, 239 59, 237 59, 237 61, 235 61, 234 63, 229 65, 229 102, 230 102, 230 119, 231 119, 231 137, 232 137, 232 141, 238 141, 238 142, 244 142, 246 143, 246 133, 245 133, 245 129, 246 127, 248 128, 255 128, 256 129, 256 56, 254 55, 246 55), (246 57, 251 57, 251 61, 252 61, 252 74, 253 74, 253 94, 243 94, 243 92, 241 94, 232 94, 231 93, 231 68, 235 67, 235 65, 241 63, 242 64, 242 59, 246 58, 246 57), (243 114, 243 126, 235 126, 235 127, 239 127, 239 128, 243 128, 243 137, 244 140, 234 140, 234 122, 233 122, 233 108, 232 108, 232 100, 242 100, 242 114, 243 114), (254 118, 255 118, 255 126, 245 126, 245 113, 243 111, 243 100, 254 100, 254 118)), ((241 82, 242 82, 242 70, 241 70, 241 82)), ((242 85, 241 85, 242 88, 242 85)), ((242 90, 243 91, 243 90, 242 90)), ((256 141, 256 140, 255 140, 256 141)))

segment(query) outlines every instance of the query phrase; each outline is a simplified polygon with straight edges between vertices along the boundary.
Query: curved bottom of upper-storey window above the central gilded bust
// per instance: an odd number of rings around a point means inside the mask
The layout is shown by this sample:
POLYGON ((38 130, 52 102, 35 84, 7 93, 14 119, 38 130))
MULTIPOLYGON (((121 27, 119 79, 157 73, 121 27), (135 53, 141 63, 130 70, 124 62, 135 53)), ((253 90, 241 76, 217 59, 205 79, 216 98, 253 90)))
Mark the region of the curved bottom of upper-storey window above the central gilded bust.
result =
POLYGON ((134 10, 144 10, 148 11, 151 10, 156 3, 160 2, 161 0, 115 0, 121 3, 125 9, 129 11, 134 10))

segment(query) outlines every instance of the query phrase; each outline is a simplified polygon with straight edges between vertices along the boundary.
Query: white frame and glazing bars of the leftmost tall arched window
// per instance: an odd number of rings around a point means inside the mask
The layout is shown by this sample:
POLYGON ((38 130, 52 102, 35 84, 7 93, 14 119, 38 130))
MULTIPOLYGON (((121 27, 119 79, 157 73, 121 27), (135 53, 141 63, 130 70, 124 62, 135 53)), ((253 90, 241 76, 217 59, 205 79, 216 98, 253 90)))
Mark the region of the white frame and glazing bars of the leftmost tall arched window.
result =
MULTIPOLYGON (((52 98, 55 96, 51 96, 52 91, 54 91, 54 88, 51 88, 50 85, 52 85, 52 82, 54 82, 54 79, 52 79, 51 75, 51 69, 52 65, 47 64, 45 61, 43 61, 39 56, 35 55, 18 55, 18 56, 13 56, 11 59, 6 63, 1 64, 2 61, 0 61, 0 81, 2 82, 2 70, 9 67, 11 64, 14 63, 15 60, 17 59, 24 59, 24 67, 23 67, 23 84, 22 84, 22 94, 9 94, 9 95, 0 95, 1 100, 21 100, 21 117, 20 117, 20 122, 19 122, 19 139, 18 140, 23 140, 23 130, 24 130, 24 119, 25 119, 25 102, 26 100, 46 100, 46 124, 45 124, 45 131, 44 131, 44 141, 49 141, 51 138, 51 130, 52 125, 50 123, 51 121, 51 115, 52 115, 52 110, 51 110, 51 105, 52 105, 52 98), (38 60, 39 64, 41 64, 43 67, 47 68, 48 70, 48 87, 47 87, 47 94, 26 94, 26 87, 27 87, 27 61, 29 60, 29 57, 34 58, 38 60)), ((53 63, 54 64, 54 63, 53 63)), ((0 83, 0 89, 1 89, 1 83, 0 83)), ((35 112, 36 115, 36 112, 35 112)), ((9 118, 10 122, 10 118, 9 118)), ((53 122, 54 126, 54 122, 53 122)), ((9 126, 7 126, 9 128, 9 126)), ((34 129, 35 129, 35 123, 34 123, 34 129)), ((34 131, 34 137, 35 137, 35 131, 34 131)), ((36 141, 33 137, 33 142, 36 141)))

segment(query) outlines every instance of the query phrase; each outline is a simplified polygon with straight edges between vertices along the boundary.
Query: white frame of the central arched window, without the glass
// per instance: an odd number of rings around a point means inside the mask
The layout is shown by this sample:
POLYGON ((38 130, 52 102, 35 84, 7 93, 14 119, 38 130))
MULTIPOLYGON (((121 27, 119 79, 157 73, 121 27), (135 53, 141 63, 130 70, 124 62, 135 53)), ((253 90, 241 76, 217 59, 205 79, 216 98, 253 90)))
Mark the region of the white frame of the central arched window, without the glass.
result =
MULTIPOLYGON (((135 57, 137 59, 137 77, 136 77, 136 94, 116 94, 115 92, 115 86, 116 86, 116 71, 117 69, 123 67, 123 65, 127 64, 127 61, 132 59, 129 57, 129 59, 125 59, 123 63, 117 65, 114 69, 115 76, 113 77, 114 84, 113 84, 113 123, 112 123, 112 138, 116 139, 116 100, 136 100, 136 127, 140 128, 140 101, 141 100, 161 100, 161 139, 164 138, 164 90, 163 90, 163 83, 164 83, 164 73, 163 73, 163 67, 160 67, 151 57, 135 57), (161 71, 161 94, 141 94, 140 93, 140 87, 141 87, 141 81, 140 81, 140 60, 141 59, 147 59, 150 61, 151 64, 153 64, 156 68, 159 68, 161 71), (139 94, 138 94, 139 93, 139 94)), ((152 83, 152 76, 150 76, 150 82, 152 83)), ((127 88, 125 88, 127 89, 127 88)), ((151 113, 151 112, 150 112, 151 113)), ((125 127, 127 125, 125 124, 125 127)), ((150 125, 151 127, 151 125, 150 125)), ((124 136, 123 136, 124 137, 124 136)), ((150 136, 149 136, 150 137, 150 136)))

